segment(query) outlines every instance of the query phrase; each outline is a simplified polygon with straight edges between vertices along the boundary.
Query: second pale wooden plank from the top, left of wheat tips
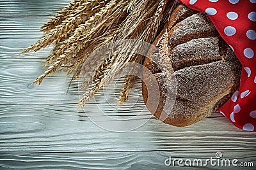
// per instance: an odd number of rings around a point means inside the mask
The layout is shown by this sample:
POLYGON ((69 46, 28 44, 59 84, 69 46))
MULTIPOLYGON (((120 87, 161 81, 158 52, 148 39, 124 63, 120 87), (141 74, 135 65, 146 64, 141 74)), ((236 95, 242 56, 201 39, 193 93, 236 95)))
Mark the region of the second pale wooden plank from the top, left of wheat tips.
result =
POLYGON ((20 52, 44 36, 39 30, 42 24, 48 19, 49 17, 40 16, 1 17, 0 59, 47 57, 51 52, 52 46, 49 46, 38 53, 29 52, 20 55, 20 52))

